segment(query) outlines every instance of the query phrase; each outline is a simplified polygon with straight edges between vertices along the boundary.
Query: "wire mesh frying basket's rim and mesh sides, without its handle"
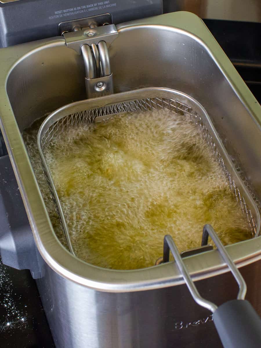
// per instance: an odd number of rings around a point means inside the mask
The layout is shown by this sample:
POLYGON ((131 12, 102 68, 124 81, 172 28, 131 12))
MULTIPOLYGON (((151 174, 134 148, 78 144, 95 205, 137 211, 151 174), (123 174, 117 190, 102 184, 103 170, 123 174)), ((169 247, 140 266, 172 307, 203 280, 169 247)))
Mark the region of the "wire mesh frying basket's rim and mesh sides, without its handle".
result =
POLYGON ((70 127, 73 128, 80 125, 106 121, 113 115, 121 112, 143 112, 162 109, 178 113, 181 116, 188 115, 190 120, 200 128, 205 141, 211 147, 214 157, 227 176, 231 191, 234 193, 240 208, 246 215, 252 237, 259 235, 259 209, 246 188, 245 183, 240 178, 237 169, 233 165, 203 106, 190 96, 172 89, 143 88, 65 105, 50 114, 39 129, 37 145, 41 156, 42 167, 68 248, 73 255, 75 254, 71 244, 68 226, 44 155, 45 149, 57 134, 70 127))

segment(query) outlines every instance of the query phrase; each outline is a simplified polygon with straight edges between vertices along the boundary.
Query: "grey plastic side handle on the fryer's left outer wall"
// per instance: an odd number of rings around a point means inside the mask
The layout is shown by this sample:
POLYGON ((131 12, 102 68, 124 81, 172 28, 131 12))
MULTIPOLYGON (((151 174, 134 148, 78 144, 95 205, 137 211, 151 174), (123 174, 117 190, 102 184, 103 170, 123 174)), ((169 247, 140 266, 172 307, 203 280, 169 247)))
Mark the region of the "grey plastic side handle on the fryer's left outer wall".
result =
POLYGON ((41 277, 44 260, 34 244, 8 156, 0 157, 0 254, 6 266, 30 269, 34 279, 41 277))

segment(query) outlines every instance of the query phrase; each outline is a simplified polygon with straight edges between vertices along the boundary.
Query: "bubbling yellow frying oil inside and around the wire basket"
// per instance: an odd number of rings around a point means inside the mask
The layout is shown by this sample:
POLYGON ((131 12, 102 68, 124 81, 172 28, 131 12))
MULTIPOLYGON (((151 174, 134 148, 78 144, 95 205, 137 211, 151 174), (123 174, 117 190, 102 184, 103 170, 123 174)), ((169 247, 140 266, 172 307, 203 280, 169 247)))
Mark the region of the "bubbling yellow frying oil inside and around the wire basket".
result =
MULTIPOLYGON (((24 134, 55 230, 33 126, 24 134)), ((116 115, 65 130, 45 152, 80 259, 113 269, 153 266, 172 235, 180 251, 200 246, 204 224, 222 242, 251 237, 249 224, 200 129, 168 110, 116 115)))

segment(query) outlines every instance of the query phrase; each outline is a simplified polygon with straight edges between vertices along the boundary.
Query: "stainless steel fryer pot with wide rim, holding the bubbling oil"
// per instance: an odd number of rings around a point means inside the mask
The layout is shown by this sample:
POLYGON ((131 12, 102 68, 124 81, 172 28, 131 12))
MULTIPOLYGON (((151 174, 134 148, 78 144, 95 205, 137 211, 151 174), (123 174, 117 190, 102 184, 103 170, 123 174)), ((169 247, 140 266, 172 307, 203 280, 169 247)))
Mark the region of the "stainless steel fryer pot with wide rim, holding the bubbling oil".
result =
MULTIPOLYGON (((260 105, 204 23, 177 12, 116 28, 108 47, 114 93, 159 87, 195 98, 258 202, 260 105)), ((54 37, 1 49, 0 61, 0 125, 41 254, 36 282, 56 346, 222 347, 211 312, 193 301, 173 262, 133 271, 102 269, 77 259, 54 234, 21 132, 42 115, 85 98, 82 56, 63 37, 54 37)), ((260 238, 226 247, 259 315, 260 238)), ((217 251, 184 262, 204 298, 217 306, 236 298, 236 282, 217 251)))

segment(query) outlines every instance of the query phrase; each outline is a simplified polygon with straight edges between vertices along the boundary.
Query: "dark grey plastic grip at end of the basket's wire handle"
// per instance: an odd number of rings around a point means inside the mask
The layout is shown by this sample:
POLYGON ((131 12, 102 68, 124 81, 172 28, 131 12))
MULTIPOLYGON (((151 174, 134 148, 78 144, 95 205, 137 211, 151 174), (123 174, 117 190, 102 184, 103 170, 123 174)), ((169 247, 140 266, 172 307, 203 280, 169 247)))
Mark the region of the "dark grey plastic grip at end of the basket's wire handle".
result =
POLYGON ((248 301, 223 303, 213 321, 224 348, 261 348, 261 319, 248 301))

